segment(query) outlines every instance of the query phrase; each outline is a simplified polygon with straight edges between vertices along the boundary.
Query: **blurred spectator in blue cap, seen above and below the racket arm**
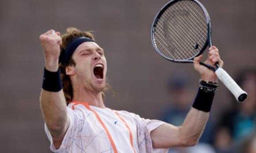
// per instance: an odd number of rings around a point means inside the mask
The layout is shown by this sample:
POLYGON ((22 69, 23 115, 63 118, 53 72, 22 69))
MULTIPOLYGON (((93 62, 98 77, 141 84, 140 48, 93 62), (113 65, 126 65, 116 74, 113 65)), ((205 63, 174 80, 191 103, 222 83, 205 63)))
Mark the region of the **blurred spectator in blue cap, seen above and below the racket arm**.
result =
MULTIPOLYGON (((196 89, 197 88, 193 90, 196 89)), ((168 102, 167 106, 164 106, 160 120, 175 126, 182 125, 195 98, 195 94, 193 94, 191 91, 189 76, 187 74, 182 71, 172 73, 167 81, 167 92, 170 95, 171 100, 168 102)), ((206 150, 206 148, 209 150, 208 152, 206 151, 204 153, 212 153, 213 149, 209 145, 213 138, 212 133, 213 121, 210 117, 206 128, 204 129, 204 133, 200 138, 200 144, 191 148, 170 149, 169 153, 191 153, 193 149, 198 151, 200 148, 202 151, 206 150)))

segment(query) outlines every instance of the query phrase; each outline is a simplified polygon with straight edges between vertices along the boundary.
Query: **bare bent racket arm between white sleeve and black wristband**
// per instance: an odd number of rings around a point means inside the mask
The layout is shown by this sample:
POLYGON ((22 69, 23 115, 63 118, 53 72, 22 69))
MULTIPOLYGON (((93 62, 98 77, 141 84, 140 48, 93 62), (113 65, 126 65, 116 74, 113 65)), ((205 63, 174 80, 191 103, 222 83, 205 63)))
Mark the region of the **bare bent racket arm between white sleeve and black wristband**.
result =
POLYGON ((192 107, 182 126, 164 124, 154 129, 150 136, 155 148, 194 146, 197 144, 209 113, 199 111, 192 107))

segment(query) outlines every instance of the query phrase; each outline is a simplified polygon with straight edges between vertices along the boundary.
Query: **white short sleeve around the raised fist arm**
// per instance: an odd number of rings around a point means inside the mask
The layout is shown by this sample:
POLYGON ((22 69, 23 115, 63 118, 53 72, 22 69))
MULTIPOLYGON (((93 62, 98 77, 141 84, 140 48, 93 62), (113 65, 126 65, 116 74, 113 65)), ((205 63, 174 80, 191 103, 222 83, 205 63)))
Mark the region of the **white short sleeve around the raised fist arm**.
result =
POLYGON ((67 115, 70 120, 70 123, 69 123, 69 127, 67 128, 67 131, 65 133, 65 136, 61 142, 61 146, 59 147, 59 149, 55 148, 55 146, 53 144, 53 140, 52 140, 52 135, 50 134, 50 131, 48 130, 48 127, 45 124, 45 133, 46 133, 48 139, 50 140, 50 149, 54 153, 68 153, 70 150, 71 141, 69 139, 73 135, 73 125, 74 125, 74 120, 75 120, 76 114, 74 113, 74 111, 72 111, 72 109, 67 107, 67 115))

